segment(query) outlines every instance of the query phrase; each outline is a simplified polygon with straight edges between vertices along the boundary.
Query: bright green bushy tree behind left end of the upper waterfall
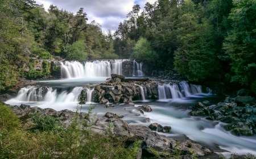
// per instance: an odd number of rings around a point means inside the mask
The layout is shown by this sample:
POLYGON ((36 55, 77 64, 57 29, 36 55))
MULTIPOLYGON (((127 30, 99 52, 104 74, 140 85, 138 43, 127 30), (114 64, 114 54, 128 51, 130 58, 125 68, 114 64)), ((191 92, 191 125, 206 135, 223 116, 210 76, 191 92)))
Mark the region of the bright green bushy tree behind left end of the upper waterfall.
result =
POLYGON ((67 60, 86 61, 88 54, 85 52, 85 44, 82 41, 76 41, 69 46, 67 51, 67 60))

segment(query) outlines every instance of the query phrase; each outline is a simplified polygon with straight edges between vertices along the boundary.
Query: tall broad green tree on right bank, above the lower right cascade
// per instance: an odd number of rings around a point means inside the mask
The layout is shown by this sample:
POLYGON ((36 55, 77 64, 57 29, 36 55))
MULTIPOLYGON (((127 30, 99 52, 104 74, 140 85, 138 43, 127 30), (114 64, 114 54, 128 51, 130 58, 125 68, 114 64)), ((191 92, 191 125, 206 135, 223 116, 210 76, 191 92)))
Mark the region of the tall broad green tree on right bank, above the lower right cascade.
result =
POLYGON ((214 57, 213 26, 209 20, 201 19, 192 1, 185 1, 180 7, 179 22, 177 24, 177 43, 175 51, 175 70, 186 74, 191 81, 205 79, 218 69, 214 57))

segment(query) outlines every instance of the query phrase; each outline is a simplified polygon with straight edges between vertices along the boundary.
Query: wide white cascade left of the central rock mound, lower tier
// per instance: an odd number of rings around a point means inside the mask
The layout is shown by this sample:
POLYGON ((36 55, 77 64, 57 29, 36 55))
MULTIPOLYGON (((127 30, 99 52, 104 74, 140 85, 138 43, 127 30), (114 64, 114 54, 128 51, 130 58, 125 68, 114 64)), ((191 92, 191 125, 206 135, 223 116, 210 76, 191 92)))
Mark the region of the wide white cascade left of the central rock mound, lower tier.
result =
POLYGON ((20 89, 18 96, 14 98, 17 101, 27 101, 27 102, 77 102, 82 87, 75 87, 72 91, 65 90, 67 88, 47 88, 46 94, 42 95, 42 87, 38 86, 28 86, 26 88, 20 89), (60 89, 60 91, 57 91, 60 89))

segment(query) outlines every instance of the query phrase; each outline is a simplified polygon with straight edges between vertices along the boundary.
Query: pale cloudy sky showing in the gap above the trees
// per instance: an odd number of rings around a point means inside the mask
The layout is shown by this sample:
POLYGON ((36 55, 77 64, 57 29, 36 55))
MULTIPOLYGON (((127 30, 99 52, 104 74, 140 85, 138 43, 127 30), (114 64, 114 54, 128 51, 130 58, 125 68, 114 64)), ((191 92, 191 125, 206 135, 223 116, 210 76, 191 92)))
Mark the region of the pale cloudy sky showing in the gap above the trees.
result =
POLYGON ((134 5, 138 4, 143 10, 146 2, 154 3, 156 0, 35 0, 38 4, 43 4, 48 10, 52 4, 59 9, 73 12, 76 14, 79 8, 84 8, 87 14, 88 23, 95 20, 102 25, 102 29, 111 29, 114 32, 118 24, 126 19, 126 14, 130 12, 134 5))

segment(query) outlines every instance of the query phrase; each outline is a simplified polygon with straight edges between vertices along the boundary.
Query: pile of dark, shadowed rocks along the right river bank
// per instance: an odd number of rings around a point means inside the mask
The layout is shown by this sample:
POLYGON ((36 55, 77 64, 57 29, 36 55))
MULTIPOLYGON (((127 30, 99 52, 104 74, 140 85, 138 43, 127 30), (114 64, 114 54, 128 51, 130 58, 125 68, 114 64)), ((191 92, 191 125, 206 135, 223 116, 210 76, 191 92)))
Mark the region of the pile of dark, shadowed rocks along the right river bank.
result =
POLYGON ((217 105, 197 102, 189 114, 229 123, 224 128, 233 135, 252 136, 256 132, 256 108, 252 101, 254 101, 252 97, 238 96, 226 98, 225 102, 219 102, 217 105))

